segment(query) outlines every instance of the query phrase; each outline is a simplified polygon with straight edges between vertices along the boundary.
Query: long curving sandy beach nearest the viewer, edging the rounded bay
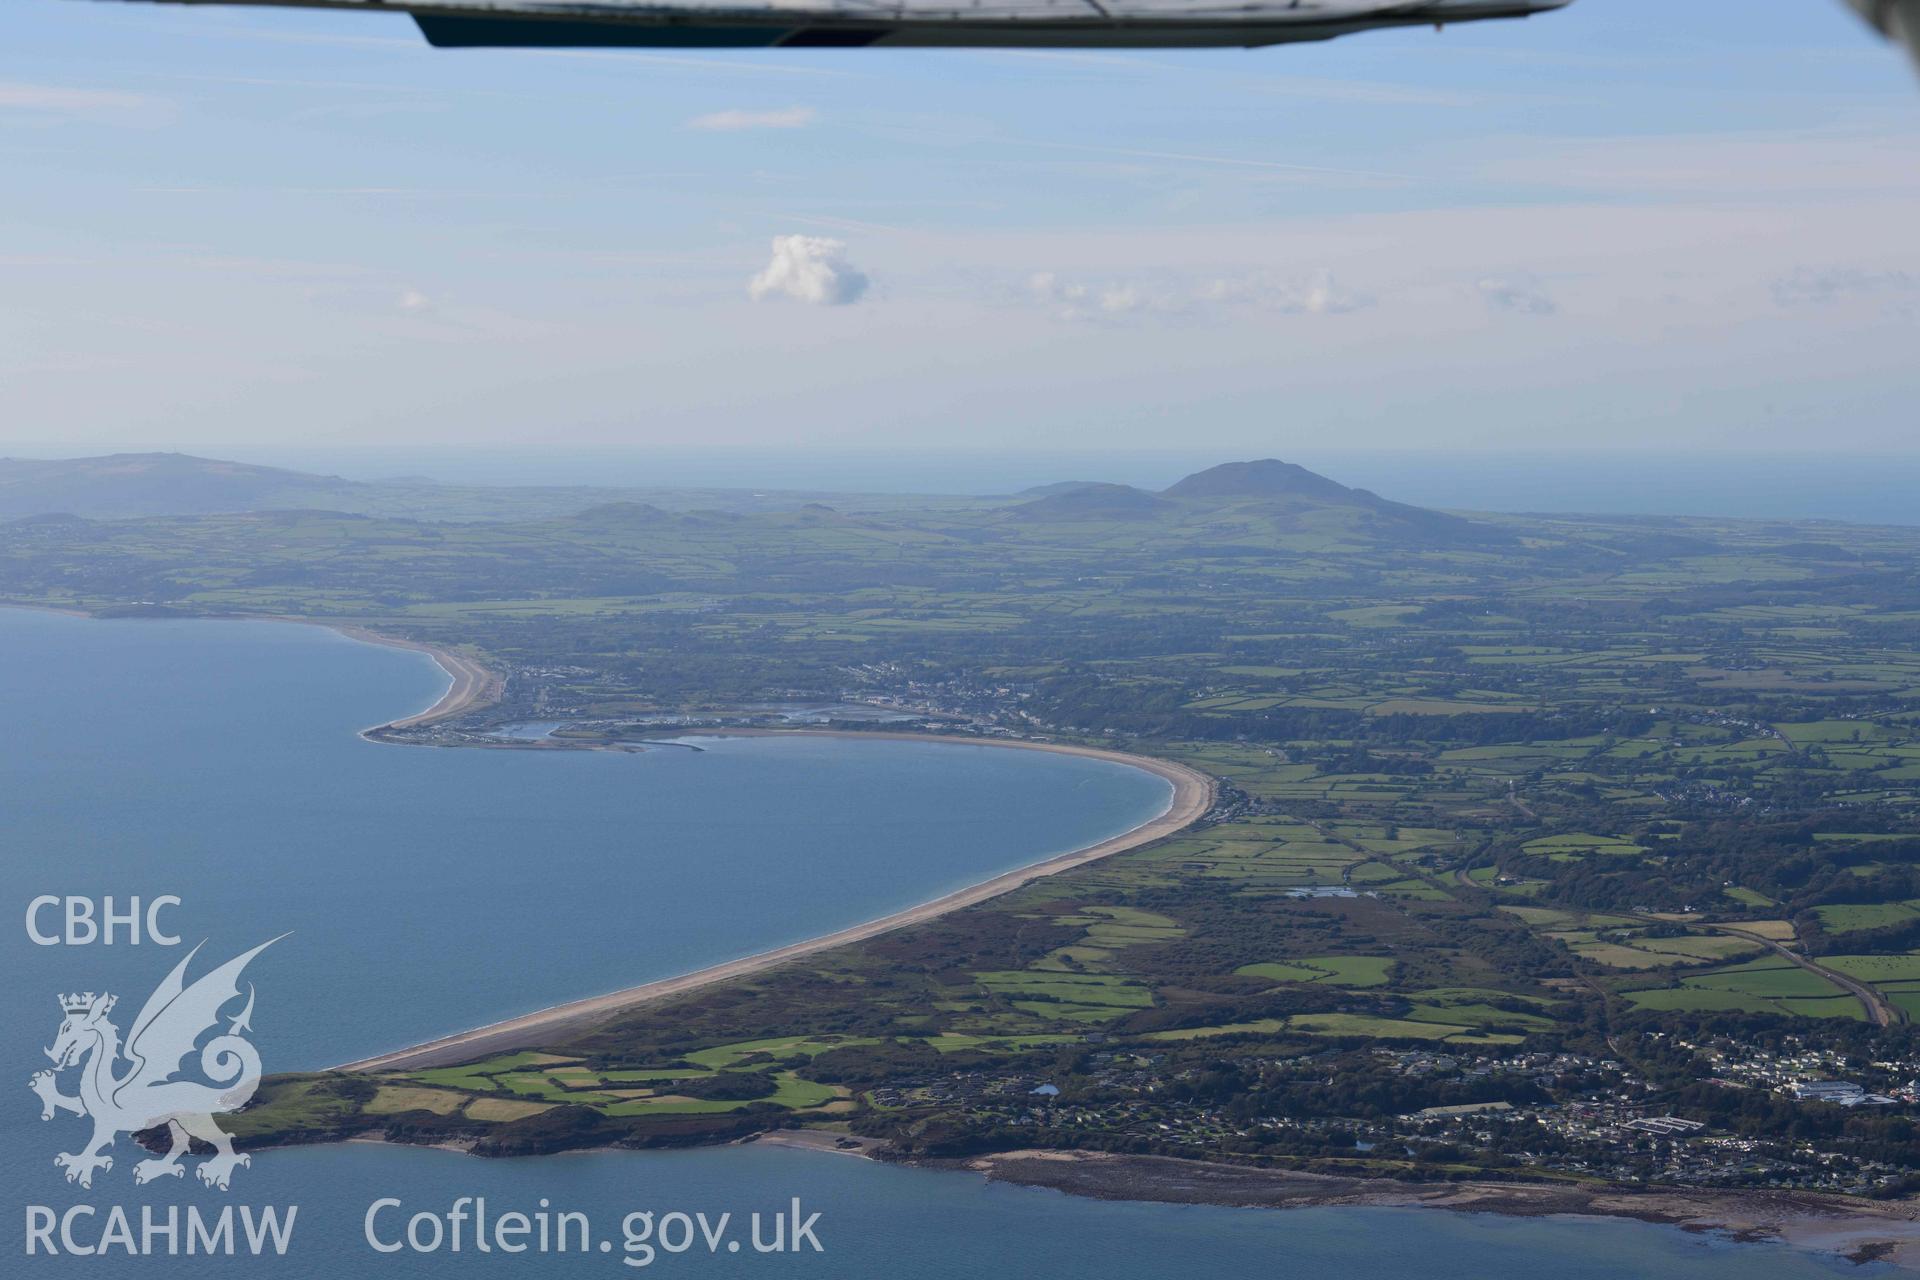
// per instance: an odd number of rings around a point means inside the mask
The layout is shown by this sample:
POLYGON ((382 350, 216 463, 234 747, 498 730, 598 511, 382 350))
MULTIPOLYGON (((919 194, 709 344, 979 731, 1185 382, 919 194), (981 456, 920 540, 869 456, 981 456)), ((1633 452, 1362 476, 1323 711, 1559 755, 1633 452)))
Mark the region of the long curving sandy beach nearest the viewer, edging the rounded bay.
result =
POLYGON ((726 983, 730 979, 747 977, 751 973, 764 973, 793 960, 812 956, 835 946, 847 946, 852 942, 864 942, 868 938, 891 933, 895 929, 906 929, 908 925, 920 925, 929 919, 947 915, 948 912, 958 912, 962 908, 996 898, 1004 892, 1012 892, 1021 885, 1037 881, 1046 875, 1058 875, 1062 871, 1071 871, 1073 867, 1083 867, 1089 862, 1098 862, 1100 858, 1112 858, 1114 854, 1125 852, 1129 848, 1139 848, 1152 841, 1169 837, 1177 831, 1190 827, 1213 806, 1213 779, 1198 770, 1188 770, 1183 764, 1171 764, 1167 760, 1154 760, 1150 756, 1133 756, 1119 750, 1102 750, 1096 747, 1068 747, 1056 743, 1016 743, 1000 739, 954 739, 941 737, 937 733, 833 733, 833 731, 808 731, 808 729, 764 729, 753 731, 755 735, 829 735, 829 737, 860 737, 860 739, 906 739, 906 741, 931 741, 931 743, 966 743, 973 747, 995 747, 1004 750, 1050 750, 1069 756, 1089 756, 1094 760, 1112 760, 1116 764, 1127 764, 1137 770, 1146 770, 1167 779, 1173 785, 1173 798, 1167 808, 1131 831, 1123 831, 1116 837, 1100 841, 1098 844, 1089 844, 1087 848, 1075 848, 1066 854, 1056 854, 1043 862, 1035 862, 1014 871, 1006 871, 993 879, 981 881, 977 885, 968 885, 931 902, 922 902, 910 906, 902 912, 893 912, 891 915, 881 915, 877 919, 852 925, 849 929, 839 929, 835 933, 826 933, 816 938, 806 938, 803 942, 791 942, 768 952, 758 952, 755 956, 743 956, 739 960, 730 960, 726 963, 710 965, 707 969, 695 969, 693 973, 682 973, 678 977, 660 979, 655 983, 643 983, 639 986, 628 986, 624 990, 609 992, 605 996, 589 996, 586 1000, 572 1000, 566 1004, 557 1004, 547 1009, 538 1009, 534 1013, 522 1013, 520 1017, 511 1017, 501 1023, 490 1023, 486 1027, 474 1027, 472 1031, 463 1031, 451 1036, 442 1036, 438 1040, 428 1040, 424 1044, 413 1044, 390 1054, 380 1054, 374 1057, 363 1057, 359 1061, 342 1063, 334 1071, 417 1071, 422 1067, 445 1067, 451 1063, 472 1061, 476 1057, 486 1057, 492 1054, 505 1054, 513 1050, 538 1048, 543 1044, 553 1044, 570 1034, 588 1031, 611 1017, 626 1013, 645 1004, 666 1000, 672 996, 684 996, 687 992, 699 990, 703 986, 712 986, 714 983, 726 983))

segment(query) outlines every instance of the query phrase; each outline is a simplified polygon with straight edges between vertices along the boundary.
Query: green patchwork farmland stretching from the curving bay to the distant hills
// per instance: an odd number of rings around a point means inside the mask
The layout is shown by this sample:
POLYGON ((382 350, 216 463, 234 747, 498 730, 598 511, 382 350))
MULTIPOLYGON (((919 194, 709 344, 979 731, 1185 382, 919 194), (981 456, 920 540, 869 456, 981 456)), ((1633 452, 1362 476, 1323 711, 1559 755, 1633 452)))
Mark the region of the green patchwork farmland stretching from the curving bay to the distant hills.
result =
MULTIPOLYGON (((1699 1071, 1668 1052, 1692 1038, 1905 1061, 1910 1029, 1859 1027, 1859 1000, 1728 929, 1920 1002, 1920 530, 1461 516, 1292 472, 1202 480, 518 491, 493 516, 472 491, 411 486, 399 509, 326 482, 303 489, 319 509, 0 522, 0 599, 351 624, 505 677, 497 704, 376 731, 396 743, 497 748, 503 725, 563 718, 547 750, 630 748, 674 720, 866 704, 1219 785, 1173 839, 553 1054, 273 1079, 234 1117, 252 1136, 520 1151, 833 1123, 933 1157, 1044 1138, 1311 1169, 1354 1151, 1304 1128, 1177 1142, 1158 1111, 1223 1080, 1260 1115, 1521 1096, 1505 1082, 1532 1075, 1496 1069, 1515 1054, 1619 1063, 1528 1084, 1555 1103, 1640 1098, 1699 1071), (1407 1046, 1455 1065, 1402 1073, 1407 1046), (1089 1128, 1037 1132, 1041 1080, 1089 1128)), ((1738 1098, 1674 1098, 1743 1132, 1738 1098)))

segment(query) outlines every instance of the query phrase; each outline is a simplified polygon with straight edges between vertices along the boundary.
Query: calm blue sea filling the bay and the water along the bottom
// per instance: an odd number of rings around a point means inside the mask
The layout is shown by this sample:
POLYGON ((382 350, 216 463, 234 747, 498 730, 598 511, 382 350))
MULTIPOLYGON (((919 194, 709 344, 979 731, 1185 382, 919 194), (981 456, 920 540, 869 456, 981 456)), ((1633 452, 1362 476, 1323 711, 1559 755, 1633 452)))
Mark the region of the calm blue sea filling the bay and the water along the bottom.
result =
POLYGON ((196 944, 202 973, 275 938, 246 971, 252 1038, 269 1071, 313 1069, 870 919, 1169 800, 1127 766, 952 743, 628 754, 359 737, 445 683, 424 654, 313 626, 0 610, 0 1274, 1862 1274, 1638 1222, 1110 1203, 772 1146, 484 1161, 346 1144, 261 1151, 219 1192, 136 1186, 142 1153, 121 1138, 92 1188, 67 1184, 54 1155, 84 1123, 40 1121, 27 1088, 58 996, 115 992, 125 1029, 196 944), (31 913, 36 898, 56 904, 31 913), (92 904, 71 927, 69 898, 92 904), (177 946, 146 935, 163 898, 179 902, 154 923, 177 946), (190 1215, 221 1240, 223 1213, 236 1253, 188 1255, 190 1215), (492 1240, 524 1247, 478 1251, 476 1219, 515 1213, 526 1230, 492 1240))

